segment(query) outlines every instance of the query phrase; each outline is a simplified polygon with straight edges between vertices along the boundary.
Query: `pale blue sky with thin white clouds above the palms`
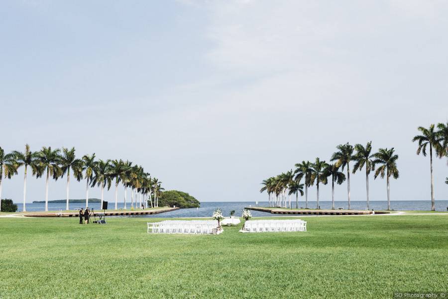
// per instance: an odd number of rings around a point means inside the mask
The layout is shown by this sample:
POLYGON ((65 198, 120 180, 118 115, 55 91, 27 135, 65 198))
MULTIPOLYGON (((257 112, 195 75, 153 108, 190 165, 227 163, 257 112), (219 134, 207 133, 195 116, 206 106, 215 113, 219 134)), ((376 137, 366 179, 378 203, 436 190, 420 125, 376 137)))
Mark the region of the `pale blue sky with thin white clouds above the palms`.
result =
MULTIPOLYGON (((437 0, 2 1, 0 147, 75 147, 200 201, 262 201, 263 179, 372 141, 399 155, 391 199, 430 200, 429 157, 411 140, 448 121, 447 13, 437 0)), ((446 159, 434 176, 447 200, 446 159)), ((365 200, 364 172, 350 177, 365 200)), ((51 181, 49 200, 65 187, 51 181)), ((22 190, 20 169, 2 197, 22 190)), ((85 198, 85 182, 70 191, 85 198)), ((385 179, 370 192, 386 200, 385 179)), ((44 196, 28 175, 27 202, 44 196)))

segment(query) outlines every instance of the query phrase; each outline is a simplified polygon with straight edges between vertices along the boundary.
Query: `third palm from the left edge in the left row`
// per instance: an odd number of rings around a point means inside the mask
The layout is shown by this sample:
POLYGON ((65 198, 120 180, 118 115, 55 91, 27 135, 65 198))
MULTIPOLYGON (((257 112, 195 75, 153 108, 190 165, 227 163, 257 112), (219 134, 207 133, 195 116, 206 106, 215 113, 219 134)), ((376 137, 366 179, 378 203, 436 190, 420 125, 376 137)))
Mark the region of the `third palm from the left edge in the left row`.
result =
POLYGON ((36 177, 41 177, 44 172, 46 172, 45 180, 45 211, 48 211, 48 179, 50 174, 53 179, 57 180, 62 174, 60 164, 61 156, 59 155, 60 149, 51 149, 51 147, 42 147, 38 153, 38 165, 37 165, 37 175, 36 177))

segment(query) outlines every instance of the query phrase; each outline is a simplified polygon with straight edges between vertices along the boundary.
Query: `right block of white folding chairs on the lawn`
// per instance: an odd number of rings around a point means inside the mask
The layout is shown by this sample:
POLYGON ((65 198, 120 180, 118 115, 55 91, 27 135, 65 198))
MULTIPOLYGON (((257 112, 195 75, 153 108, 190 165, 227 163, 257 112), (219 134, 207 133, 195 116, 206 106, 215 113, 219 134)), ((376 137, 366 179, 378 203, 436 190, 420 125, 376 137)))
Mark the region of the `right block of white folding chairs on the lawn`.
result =
POLYGON ((300 219, 247 220, 240 230, 243 233, 306 232, 307 222, 300 219))

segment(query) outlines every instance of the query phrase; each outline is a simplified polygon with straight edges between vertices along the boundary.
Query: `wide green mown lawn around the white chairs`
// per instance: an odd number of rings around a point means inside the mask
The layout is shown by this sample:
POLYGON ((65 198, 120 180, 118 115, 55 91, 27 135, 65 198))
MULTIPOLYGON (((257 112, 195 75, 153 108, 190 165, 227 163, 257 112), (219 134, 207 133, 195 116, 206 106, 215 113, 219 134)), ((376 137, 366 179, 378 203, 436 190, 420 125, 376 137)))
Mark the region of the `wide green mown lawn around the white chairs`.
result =
MULTIPOLYGON (((272 218, 270 218, 272 219, 272 218)), ((0 218, 0 298, 392 298, 446 291, 445 215, 303 217, 308 232, 147 234, 154 218, 0 218), (87 295, 86 295, 87 294, 87 295)))

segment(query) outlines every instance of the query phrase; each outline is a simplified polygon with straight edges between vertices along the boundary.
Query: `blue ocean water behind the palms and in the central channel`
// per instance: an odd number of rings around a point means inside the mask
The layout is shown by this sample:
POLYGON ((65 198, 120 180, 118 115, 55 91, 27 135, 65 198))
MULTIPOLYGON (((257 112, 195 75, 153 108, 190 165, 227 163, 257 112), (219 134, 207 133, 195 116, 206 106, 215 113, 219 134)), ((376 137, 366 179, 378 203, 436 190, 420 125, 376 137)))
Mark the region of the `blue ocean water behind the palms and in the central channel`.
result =
MULTIPOLYGON (((330 209, 332 207, 331 201, 320 201, 321 209, 330 209)), ((291 205, 295 208, 295 201, 291 201, 291 205)), ((114 203, 109 202, 109 207, 114 208, 114 203)), ((22 210, 22 204, 17 203, 19 211, 22 210)), ((122 208, 124 204, 122 202, 118 203, 118 208, 122 208)), ((211 217, 213 211, 216 208, 221 208, 224 216, 228 216, 231 210, 235 210, 235 216, 241 216, 242 210, 244 207, 252 206, 255 207, 256 203, 254 201, 221 201, 221 202, 202 202, 200 208, 191 208, 191 209, 180 209, 172 212, 166 212, 162 214, 156 215, 145 215, 138 217, 211 217)), ((258 202, 258 206, 268 206, 268 202, 258 202)), ((79 208, 84 208, 85 204, 81 203, 73 203, 69 205, 71 210, 76 210, 79 208)), ((90 208, 94 210, 101 210, 100 203, 90 203, 90 208)), ((129 208, 130 205, 127 204, 129 208)), ((299 207, 305 207, 304 201, 299 201, 299 207)), ((315 201, 308 201, 309 208, 316 208, 315 201)), ((335 207, 346 209, 348 207, 346 201, 336 201, 335 207)), ((436 210, 438 211, 447 211, 448 200, 436 200, 436 210)), ((365 210, 366 203, 365 201, 352 201, 351 209, 353 210, 365 210)), ((385 210, 387 208, 387 201, 371 201, 370 209, 373 210, 385 210)), ((59 211, 60 209, 65 210, 65 203, 49 203, 48 209, 50 211, 59 211)), ((400 200, 400 201, 391 201, 391 209, 394 210, 431 210, 431 201, 429 200, 400 200)), ((27 211, 43 211, 45 210, 44 203, 27 203, 26 204, 27 211)), ((273 215, 266 212, 258 212, 251 211, 252 216, 279 216, 273 215)))

